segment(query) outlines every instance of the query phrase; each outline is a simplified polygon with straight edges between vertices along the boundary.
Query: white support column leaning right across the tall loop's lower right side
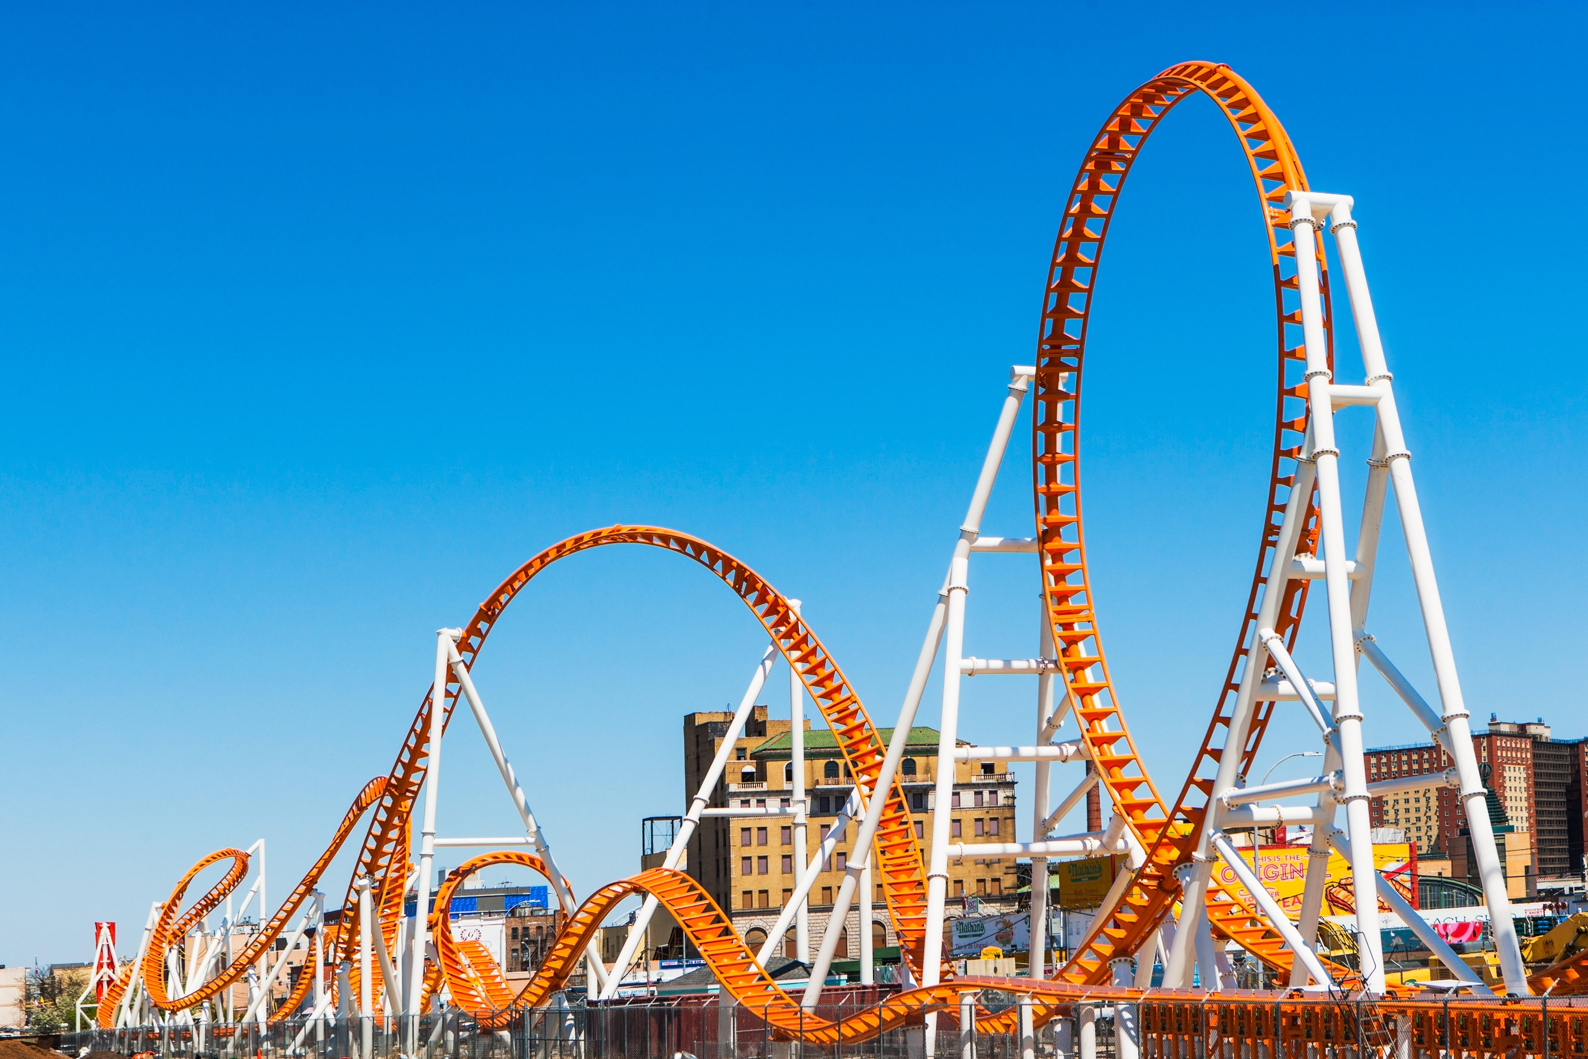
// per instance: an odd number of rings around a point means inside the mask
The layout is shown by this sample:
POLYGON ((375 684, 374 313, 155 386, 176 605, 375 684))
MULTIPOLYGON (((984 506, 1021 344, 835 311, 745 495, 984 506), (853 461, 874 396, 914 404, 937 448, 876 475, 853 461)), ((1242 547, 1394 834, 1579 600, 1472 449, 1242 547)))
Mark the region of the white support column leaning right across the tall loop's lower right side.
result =
MULTIPOLYGON (((1310 448, 1312 433, 1302 443, 1310 448)), ((1280 524, 1280 537, 1274 546, 1274 559, 1262 583, 1262 603, 1258 607, 1256 629, 1272 629, 1280 618, 1280 603, 1285 599, 1285 583, 1291 576, 1291 556, 1296 553, 1296 541, 1307 518, 1307 503, 1312 499, 1315 467, 1302 459, 1296 464, 1291 478, 1291 491, 1285 500, 1285 521, 1280 524)), ((1180 922, 1175 929, 1175 940, 1169 946, 1169 961, 1164 964, 1164 986, 1189 989, 1191 967, 1196 959, 1199 938, 1207 935, 1207 883, 1213 873, 1213 851, 1210 832, 1218 827, 1223 803, 1218 795, 1235 786, 1240 776, 1240 749, 1247 743, 1247 730, 1251 727, 1251 714, 1258 705, 1258 686, 1262 683, 1267 645, 1255 635, 1247 646, 1247 662, 1240 672, 1240 691, 1235 692, 1235 707, 1231 711, 1229 730, 1224 735, 1224 753, 1218 759, 1218 772, 1213 780, 1213 797, 1207 800, 1207 819, 1202 822, 1202 834, 1193 854, 1191 872, 1180 902, 1180 922)), ((1202 943, 1204 956, 1212 951, 1212 937, 1202 943)), ((1218 981, 1218 970, 1205 967, 1202 981, 1218 981)))

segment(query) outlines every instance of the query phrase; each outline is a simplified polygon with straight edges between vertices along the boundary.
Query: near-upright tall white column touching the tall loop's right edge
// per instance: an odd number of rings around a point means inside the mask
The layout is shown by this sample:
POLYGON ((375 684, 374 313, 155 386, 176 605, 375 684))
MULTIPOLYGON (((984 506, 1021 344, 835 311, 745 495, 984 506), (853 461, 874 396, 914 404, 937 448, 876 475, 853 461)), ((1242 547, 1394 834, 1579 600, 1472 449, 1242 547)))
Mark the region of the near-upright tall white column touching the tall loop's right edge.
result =
MULTIPOLYGON (((1302 333, 1307 346, 1307 405, 1312 427, 1312 459, 1318 473, 1318 521, 1323 543, 1324 589, 1329 600, 1329 654, 1334 660, 1334 724, 1340 738, 1340 772, 1345 776, 1345 822, 1353 838, 1351 878, 1358 892, 1374 878, 1372 818, 1367 795, 1367 768, 1363 761, 1363 711, 1356 695, 1356 641, 1351 637, 1351 583, 1345 554, 1345 524, 1340 511, 1340 449, 1334 440, 1334 403, 1329 397, 1329 351, 1323 335, 1323 302, 1318 291, 1318 221, 1305 194, 1289 192, 1291 233, 1296 252, 1296 283, 1301 292, 1302 333)), ((1274 924, 1278 926, 1278 924, 1274 924)), ((1363 984, 1367 992, 1383 992, 1383 942, 1378 934, 1378 905, 1361 900, 1356 907, 1363 984)))

